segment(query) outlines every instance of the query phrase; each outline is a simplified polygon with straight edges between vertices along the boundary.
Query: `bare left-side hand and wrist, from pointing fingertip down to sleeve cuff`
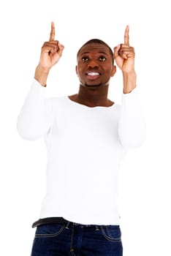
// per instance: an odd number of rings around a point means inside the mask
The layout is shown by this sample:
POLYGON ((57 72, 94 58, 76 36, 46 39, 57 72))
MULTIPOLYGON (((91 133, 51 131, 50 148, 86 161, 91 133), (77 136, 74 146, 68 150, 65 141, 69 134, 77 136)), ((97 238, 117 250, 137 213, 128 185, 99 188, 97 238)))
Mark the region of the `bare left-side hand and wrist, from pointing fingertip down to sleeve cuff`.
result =
POLYGON ((46 86, 47 75, 50 68, 61 58, 63 50, 64 45, 61 45, 60 42, 55 40, 55 25, 52 22, 50 39, 42 45, 39 64, 34 75, 34 78, 41 83, 42 86, 46 86))

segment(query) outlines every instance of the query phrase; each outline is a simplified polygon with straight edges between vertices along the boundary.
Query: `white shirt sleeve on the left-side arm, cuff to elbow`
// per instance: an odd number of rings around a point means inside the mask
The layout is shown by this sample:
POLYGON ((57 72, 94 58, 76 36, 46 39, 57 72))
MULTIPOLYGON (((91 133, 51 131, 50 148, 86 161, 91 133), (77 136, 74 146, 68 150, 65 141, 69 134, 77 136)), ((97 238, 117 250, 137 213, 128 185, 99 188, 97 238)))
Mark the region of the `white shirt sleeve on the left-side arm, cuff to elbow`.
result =
POLYGON ((24 140, 42 138, 50 129, 52 119, 52 102, 45 99, 45 87, 34 79, 18 116, 18 133, 24 140))

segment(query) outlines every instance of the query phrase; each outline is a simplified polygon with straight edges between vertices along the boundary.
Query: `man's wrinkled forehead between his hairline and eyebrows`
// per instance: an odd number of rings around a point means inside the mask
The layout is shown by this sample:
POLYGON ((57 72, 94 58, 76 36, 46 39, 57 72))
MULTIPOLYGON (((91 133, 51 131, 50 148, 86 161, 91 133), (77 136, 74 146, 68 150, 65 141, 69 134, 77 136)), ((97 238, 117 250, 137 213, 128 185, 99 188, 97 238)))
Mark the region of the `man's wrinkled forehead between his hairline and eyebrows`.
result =
POLYGON ((88 45, 84 45, 78 54, 78 56, 83 55, 85 53, 104 53, 104 54, 110 54, 110 50, 106 45, 102 45, 99 43, 90 43, 88 45))

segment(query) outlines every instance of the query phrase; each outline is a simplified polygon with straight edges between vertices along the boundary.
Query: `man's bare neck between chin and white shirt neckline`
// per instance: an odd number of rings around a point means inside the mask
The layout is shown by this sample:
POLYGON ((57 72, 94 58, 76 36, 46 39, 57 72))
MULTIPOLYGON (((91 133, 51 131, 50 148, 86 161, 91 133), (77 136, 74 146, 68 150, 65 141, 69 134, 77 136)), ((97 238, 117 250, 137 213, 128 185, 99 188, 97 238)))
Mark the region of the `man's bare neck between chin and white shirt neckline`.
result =
POLYGON ((110 99, 107 99, 109 86, 81 86, 77 94, 70 96, 73 101, 86 105, 88 107, 113 105, 110 99))

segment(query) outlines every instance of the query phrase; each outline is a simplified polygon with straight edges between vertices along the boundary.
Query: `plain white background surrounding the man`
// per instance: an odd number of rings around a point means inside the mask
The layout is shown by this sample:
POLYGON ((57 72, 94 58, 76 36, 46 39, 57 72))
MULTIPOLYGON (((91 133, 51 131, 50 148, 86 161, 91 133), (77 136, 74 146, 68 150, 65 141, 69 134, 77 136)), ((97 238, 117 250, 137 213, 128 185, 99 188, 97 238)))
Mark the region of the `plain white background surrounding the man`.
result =
MULTIPOLYGON (((147 139, 121 166, 123 255, 171 255, 169 1, 11 0, 0 5, 0 255, 30 255, 31 224, 45 195, 44 142, 22 140, 16 122, 52 20, 65 49, 50 72, 47 97, 77 92, 75 56, 84 42, 100 38, 113 48, 123 42, 129 24, 147 139)), ((121 91, 118 69, 110 99, 120 102, 121 91)))

